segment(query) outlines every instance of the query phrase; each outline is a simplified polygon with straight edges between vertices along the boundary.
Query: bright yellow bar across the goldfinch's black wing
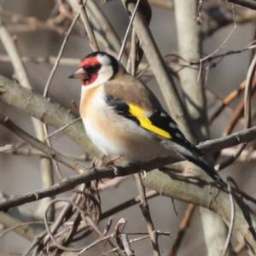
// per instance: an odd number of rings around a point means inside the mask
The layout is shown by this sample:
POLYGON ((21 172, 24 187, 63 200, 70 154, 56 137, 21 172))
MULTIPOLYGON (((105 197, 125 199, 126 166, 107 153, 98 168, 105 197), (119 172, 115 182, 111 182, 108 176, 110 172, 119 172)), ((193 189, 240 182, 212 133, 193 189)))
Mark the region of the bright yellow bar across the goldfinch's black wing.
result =
POLYGON ((129 105, 129 112, 139 121, 140 125, 144 129, 147 129, 148 131, 152 131, 155 134, 160 135, 161 137, 172 139, 172 136, 168 131, 165 131, 160 127, 152 124, 151 120, 147 116, 147 112, 143 110, 143 108, 140 108, 134 104, 128 104, 128 105, 129 105))

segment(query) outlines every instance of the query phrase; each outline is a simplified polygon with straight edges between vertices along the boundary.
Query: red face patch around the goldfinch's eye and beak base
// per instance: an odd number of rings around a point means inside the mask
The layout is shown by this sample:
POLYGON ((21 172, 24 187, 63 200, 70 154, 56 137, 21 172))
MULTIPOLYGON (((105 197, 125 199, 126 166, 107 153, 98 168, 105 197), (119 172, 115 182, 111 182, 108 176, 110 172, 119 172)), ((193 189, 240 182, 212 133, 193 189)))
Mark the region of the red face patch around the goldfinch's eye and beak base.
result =
POLYGON ((98 77, 98 70, 101 66, 101 63, 96 57, 84 59, 80 67, 84 68, 84 71, 88 74, 88 79, 84 79, 82 84, 90 85, 95 82, 98 77))

